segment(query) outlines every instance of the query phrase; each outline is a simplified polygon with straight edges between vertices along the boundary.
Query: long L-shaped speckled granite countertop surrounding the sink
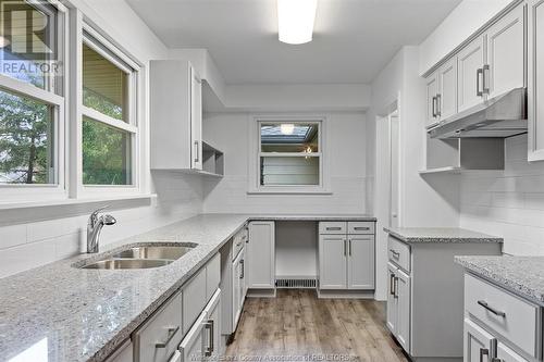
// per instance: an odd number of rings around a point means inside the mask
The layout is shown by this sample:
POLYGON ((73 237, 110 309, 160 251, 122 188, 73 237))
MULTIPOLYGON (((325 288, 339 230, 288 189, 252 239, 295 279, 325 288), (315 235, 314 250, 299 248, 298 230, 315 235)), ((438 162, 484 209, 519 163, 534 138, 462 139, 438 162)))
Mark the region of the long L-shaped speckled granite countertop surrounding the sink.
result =
POLYGON ((367 215, 202 214, 0 279, 0 361, 103 361, 249 220, 357 220, 367 215), (194 242, 170 265, 81 270, 126 245, 194 242), (22 354, 23 353, 23 354, 22 354), (24 354, 27 353, 27 354, 24 354), (28 353, 33 357, 30 358, 28 353))

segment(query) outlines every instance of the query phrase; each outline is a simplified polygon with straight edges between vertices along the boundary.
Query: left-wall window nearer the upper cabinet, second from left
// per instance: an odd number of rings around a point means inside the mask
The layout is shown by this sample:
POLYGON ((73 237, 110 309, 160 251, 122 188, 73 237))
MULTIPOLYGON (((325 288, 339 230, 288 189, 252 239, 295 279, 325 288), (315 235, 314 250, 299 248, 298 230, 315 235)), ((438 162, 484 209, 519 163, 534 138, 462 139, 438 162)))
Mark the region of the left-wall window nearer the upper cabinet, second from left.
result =
POLYGON ((137 72, 88 33, 82 52, 83 185, 132 186, 137 72))

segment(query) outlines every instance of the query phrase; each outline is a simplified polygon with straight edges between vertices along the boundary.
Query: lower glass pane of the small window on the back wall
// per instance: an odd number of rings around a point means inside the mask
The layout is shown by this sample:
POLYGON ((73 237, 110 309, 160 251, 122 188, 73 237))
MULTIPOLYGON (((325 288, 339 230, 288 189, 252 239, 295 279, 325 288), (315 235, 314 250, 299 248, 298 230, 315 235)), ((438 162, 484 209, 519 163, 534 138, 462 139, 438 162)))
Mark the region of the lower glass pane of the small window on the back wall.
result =
POLYGON ((261 157, 260 184, 319 185, 318 157, 261 157))

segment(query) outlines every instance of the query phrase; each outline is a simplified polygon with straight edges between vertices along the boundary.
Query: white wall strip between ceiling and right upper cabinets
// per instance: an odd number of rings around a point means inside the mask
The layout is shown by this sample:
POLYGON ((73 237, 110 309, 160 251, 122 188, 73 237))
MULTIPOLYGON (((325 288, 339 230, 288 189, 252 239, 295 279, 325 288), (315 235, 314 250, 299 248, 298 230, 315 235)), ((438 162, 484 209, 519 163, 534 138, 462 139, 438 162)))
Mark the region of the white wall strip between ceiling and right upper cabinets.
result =
POLYGON ((510 2, 512 0, 463 0, 419 46, 419 73, 429 71, 510 2))

